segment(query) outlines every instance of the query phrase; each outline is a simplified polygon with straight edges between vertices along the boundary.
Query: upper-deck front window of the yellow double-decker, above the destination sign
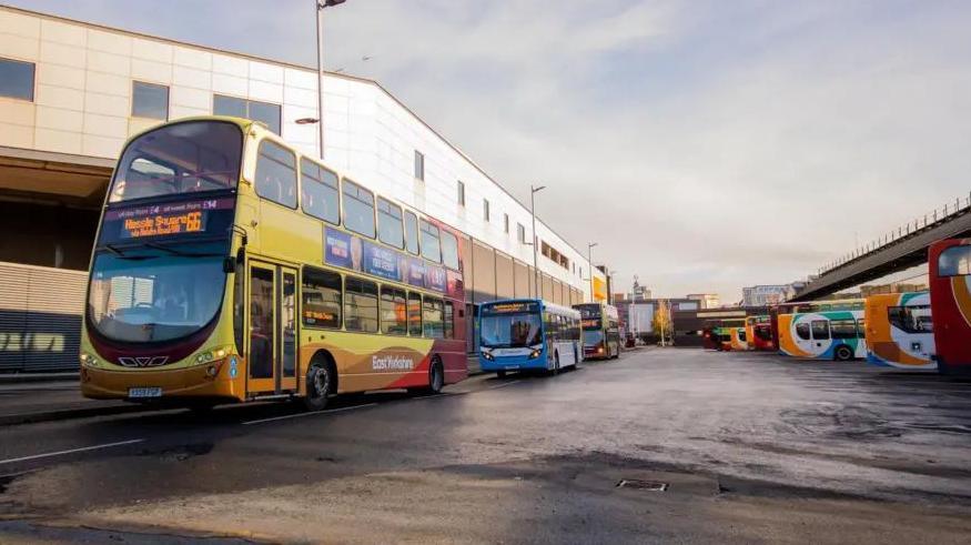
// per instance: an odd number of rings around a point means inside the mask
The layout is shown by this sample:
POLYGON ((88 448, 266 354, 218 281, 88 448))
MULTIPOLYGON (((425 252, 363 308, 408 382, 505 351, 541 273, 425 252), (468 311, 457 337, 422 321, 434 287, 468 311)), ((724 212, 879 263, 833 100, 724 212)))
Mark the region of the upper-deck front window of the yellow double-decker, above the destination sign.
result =
POLYGON ((186 121, 146 132, 125 148, 109 202, 234 189, 243 132, 226 121, 186 121))

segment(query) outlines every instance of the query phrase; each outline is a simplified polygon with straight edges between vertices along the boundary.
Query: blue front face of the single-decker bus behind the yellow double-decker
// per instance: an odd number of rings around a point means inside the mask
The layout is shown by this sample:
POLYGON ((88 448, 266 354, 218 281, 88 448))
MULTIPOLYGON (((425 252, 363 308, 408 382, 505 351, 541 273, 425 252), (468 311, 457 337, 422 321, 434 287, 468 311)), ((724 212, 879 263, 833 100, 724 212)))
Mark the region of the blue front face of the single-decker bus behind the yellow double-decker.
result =
POLYGON ((543 303, 513 300, 479 309, 479 369, 504 376, 509 371, 547 370, 543 303))

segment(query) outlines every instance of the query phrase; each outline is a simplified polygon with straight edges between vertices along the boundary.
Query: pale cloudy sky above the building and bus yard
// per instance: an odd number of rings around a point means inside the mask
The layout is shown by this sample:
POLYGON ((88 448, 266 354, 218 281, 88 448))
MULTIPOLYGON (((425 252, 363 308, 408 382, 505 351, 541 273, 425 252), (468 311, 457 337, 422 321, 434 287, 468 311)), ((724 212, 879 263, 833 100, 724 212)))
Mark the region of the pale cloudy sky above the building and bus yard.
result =
MULTIPOLYGON (((315 62, 312 0, 11 3, 315 62)), ((547 185, 537 214, 618 287, 736 302, 969 195, 969 28, 947 0, 347 0, 324 64, 522 201, 547 185)))

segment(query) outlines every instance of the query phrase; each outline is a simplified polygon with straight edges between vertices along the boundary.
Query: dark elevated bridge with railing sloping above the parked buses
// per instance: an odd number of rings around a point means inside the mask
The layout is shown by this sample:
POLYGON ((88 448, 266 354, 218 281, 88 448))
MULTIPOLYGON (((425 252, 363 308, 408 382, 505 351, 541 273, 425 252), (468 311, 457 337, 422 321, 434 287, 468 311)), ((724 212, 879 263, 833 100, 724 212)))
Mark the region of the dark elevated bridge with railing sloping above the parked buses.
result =
POLYGON ((964 236, 971 236, 971 195, 955 199, 820 268, 791 301, 812 301, 920 265, 927 262, 931 243, 964 236))

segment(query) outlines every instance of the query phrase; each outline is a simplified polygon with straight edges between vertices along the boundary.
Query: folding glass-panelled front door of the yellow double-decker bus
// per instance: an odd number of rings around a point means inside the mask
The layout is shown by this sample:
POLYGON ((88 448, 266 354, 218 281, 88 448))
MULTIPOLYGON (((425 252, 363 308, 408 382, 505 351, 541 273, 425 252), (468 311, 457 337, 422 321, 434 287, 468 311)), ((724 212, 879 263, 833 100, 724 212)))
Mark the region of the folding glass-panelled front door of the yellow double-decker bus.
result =
POLYGON ((296 270, 250 263, 249 395, 296 391, 296 270))

